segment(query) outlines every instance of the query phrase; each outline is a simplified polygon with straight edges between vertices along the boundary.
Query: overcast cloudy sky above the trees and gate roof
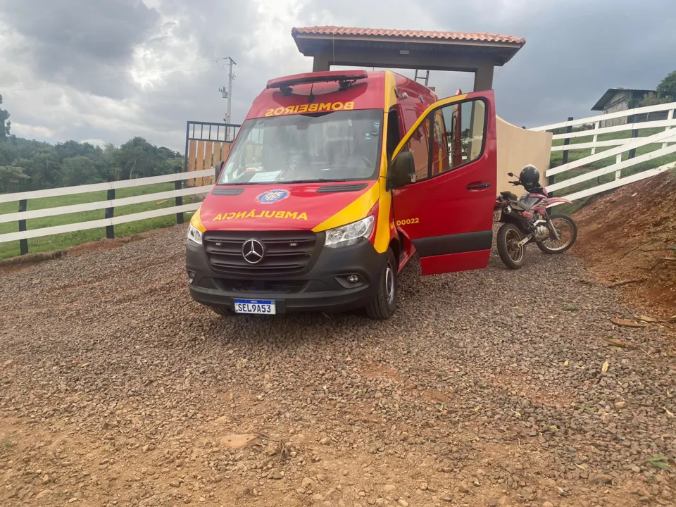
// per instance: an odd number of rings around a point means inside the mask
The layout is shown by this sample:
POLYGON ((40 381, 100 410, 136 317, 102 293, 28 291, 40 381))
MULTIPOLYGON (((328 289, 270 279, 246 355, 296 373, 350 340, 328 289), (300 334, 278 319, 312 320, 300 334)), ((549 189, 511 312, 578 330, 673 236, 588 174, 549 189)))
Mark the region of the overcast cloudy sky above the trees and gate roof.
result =
MULTIPOLYGON (((182 151, 186 120, 223 121, 237 62, 239 123, 270 77, 309 71, 294 26, 480 31, 525 37, 496 68, 497 112, 515 125, 590 109, 609 87, 654 88, 676 70, 676 0, 0 0, 0 94, 12 132, 182 151)), ((404 71, 403 73, 407 73, 404 71)), ((432 72, 440 96, 472 75, 432 72)))

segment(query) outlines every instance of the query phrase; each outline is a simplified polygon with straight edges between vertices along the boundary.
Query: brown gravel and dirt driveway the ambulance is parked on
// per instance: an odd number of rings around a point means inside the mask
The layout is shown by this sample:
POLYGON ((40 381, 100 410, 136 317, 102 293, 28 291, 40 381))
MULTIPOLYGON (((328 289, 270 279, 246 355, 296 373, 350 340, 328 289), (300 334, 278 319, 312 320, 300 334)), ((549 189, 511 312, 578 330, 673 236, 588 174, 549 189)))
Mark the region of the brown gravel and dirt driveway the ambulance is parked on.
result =
POLYGON ((613 325, 574 256, 224 320, 184 233, 0 275, 1 505, 676 504, 674 330, 613 325))

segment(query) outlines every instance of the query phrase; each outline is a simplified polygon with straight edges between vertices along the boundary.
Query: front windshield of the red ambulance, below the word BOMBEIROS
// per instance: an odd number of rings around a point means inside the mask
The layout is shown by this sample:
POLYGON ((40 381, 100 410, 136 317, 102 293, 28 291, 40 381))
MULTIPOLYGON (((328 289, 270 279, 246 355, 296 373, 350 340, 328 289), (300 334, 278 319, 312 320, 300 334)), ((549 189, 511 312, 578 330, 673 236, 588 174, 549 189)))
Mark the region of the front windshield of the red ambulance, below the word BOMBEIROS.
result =
POLYGON ((368 109, 246 120, 218 184, 375 179, 382 118, 368 109))

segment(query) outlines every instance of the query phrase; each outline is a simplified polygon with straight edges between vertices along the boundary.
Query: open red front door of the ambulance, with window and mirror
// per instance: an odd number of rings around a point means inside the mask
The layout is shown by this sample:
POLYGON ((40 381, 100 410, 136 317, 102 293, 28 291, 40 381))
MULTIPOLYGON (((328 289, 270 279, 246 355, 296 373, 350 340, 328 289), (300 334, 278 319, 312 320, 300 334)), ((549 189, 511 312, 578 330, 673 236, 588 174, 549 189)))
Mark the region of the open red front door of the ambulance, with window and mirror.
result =
POLYGON ((387 184, 423 275, 487 266, 496 181, 492 90, 442 99, 420 115, 394 150, 387 184))

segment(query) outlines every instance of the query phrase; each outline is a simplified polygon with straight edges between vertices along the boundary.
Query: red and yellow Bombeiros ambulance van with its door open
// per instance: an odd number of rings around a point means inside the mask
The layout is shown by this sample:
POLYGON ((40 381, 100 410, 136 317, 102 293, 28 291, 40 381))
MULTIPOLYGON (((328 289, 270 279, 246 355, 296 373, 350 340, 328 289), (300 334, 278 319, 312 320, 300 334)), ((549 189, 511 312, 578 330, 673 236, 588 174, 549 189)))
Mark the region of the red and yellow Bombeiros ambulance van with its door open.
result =
POLYGON ((492 246, 492 91, 439 100, 392 71, 270 80, 186 246, 192 298, 220 315, 387 319, 399 272, 484 268, 492 246))

